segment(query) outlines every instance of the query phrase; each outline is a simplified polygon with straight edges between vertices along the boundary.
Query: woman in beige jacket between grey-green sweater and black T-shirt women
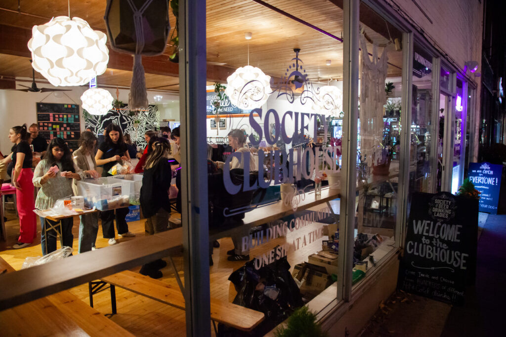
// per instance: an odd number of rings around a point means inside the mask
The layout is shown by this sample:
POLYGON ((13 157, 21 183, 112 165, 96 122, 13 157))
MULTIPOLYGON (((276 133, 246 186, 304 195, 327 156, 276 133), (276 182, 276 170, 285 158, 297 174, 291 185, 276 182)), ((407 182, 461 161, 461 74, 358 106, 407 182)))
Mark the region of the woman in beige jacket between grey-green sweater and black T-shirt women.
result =
MULTIPOLYGON (((79 149, 72 153, 74 165, 87 178, 98 178, 100 176, 96 171, 97 163, 95 162, 95 156, 93 156, 96 143, 97 137, 92 132, 82 132, 79 138, 79 149)), ((74 187, 75 191, 75 180, 72 187, 74 187)), ((98 213, 83 214, 79 218, 78 252, 84 253, 95 250, 95 241, 97 240, 98 233, 98 213)))

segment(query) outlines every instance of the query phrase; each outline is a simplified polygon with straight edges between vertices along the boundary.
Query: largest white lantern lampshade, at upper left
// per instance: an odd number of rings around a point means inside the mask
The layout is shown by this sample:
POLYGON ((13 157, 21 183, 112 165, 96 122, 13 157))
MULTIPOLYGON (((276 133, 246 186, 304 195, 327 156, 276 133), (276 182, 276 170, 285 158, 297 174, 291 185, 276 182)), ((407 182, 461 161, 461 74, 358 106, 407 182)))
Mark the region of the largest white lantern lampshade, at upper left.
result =
POLYGON ((67 16, 33 26, 28 41, 32 67, 54 86, 88 83, 107 69, 107 36, 88 22, 67 16))

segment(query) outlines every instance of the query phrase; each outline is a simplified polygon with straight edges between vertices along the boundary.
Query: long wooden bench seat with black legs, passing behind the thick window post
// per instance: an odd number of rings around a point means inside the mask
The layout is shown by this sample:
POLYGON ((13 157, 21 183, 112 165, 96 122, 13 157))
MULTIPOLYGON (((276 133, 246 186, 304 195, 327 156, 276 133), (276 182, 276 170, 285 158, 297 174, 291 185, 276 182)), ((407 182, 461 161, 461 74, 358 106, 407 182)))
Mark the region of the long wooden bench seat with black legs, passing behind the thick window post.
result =
MULTIPOLYGON (((155 301, 185 310, 185 299, 177 286, 166 284, 130 270, 102 277, 101 280, 155 301)), ((90 296, 92 295, 90 294, 90 296)), ((111 301, 114 301, 114 299, 111 298, 111 301)), ((210 312, 213 321, 243 331, 254 329, 264 320, 264 313, 262 312, 215 299, 210 300, 210 312)))

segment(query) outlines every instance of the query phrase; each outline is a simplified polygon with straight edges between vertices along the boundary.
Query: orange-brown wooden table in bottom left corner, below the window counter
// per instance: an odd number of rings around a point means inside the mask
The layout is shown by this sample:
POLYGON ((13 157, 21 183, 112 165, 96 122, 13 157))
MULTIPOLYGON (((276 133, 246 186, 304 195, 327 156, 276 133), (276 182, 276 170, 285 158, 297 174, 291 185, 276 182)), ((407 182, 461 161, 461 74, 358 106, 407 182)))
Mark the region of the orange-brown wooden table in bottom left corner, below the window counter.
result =
MULTIPOLYGON (((15 271, 0 258, 0 272, 4 270, 15 271)), ((69 291, 0 311, 0 331, 3 336, 133 336, 69 291)))

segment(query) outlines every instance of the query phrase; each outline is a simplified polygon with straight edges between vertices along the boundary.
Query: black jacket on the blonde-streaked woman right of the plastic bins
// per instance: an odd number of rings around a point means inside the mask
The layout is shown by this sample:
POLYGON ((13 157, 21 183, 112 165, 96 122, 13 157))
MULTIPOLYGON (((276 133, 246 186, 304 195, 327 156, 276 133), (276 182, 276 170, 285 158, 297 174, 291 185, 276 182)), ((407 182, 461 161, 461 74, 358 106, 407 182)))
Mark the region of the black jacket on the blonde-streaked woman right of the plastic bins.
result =
POLYGON ((150 169, 144 170, 141 187, 142 214, 148 218, 163 208, 171 212, 168 188, 171 187, 172 171, 168 159, 162 159, 150 169))

